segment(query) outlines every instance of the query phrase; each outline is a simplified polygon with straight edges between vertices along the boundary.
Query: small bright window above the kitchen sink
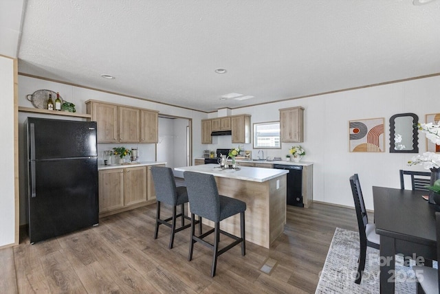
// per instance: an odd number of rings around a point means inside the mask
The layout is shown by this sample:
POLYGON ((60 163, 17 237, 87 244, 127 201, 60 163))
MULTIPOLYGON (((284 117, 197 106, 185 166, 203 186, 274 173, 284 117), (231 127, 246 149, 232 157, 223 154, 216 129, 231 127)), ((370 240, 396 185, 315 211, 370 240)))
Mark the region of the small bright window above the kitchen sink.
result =
POLYGON ((254 124, 254 148, 281 148, 280 122, 254 124))

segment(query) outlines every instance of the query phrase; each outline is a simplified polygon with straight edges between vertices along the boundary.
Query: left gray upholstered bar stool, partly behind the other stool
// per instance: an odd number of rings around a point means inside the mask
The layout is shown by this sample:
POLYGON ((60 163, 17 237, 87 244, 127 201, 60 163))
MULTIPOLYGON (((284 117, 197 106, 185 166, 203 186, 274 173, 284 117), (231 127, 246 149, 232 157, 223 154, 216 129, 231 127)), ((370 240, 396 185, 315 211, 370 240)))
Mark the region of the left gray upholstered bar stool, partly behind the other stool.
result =
MULTIPOLYGON (((173 248, 174 235, 182 229, 190 227, 190 223, 185 225, 185 218, 190 219, 185 215, 185 203, 188 202, 188 194, 186 187, 176 187, 173 170, 164 166, 152 166, 151 172, 153 174, 154 188, 156 191, 157 200, 157 212, 156 212, 156 224, 154 231, 154 238, 157 239, 159 233, 159 225, 166 225, 171 228, 170 245, 169 249, 173 248), (173 206, 173 216, 166 219, 160 218, 160 203, 166 203, 173 206), (177 205, 181 206, 180 213, 177 214, 177 205), (176 219, 181 218, 181 227, 176 228, 176 219), (171 223, 168 223, 171 220, 171 223)), ((199 223, 199 231, 201 233, 201 221, 197 220, 195 223, 199 223)))

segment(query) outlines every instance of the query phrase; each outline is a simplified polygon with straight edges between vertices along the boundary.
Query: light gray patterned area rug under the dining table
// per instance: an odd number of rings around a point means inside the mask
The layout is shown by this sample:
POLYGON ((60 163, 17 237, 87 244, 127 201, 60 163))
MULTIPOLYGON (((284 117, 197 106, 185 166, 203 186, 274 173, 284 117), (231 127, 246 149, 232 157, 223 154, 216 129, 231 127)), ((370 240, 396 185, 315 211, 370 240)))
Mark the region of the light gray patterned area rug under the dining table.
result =
MULTIPOLYGON (((355 284, 358 269, 359 233, 336 228, 316 293, 379 293, 379 250, 367 247, 362 282, 355 284)), ((404 267, 404 259, 396 256, 395 293, 415 293, 415 274, 404 267)))

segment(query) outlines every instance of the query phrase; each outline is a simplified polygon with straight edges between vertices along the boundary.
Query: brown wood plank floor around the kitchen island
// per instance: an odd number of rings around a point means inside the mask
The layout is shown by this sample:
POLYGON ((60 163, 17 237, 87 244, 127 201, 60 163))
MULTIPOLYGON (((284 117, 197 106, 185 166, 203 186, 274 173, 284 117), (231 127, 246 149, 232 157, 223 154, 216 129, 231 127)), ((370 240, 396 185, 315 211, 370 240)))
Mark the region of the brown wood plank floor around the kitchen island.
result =
MULTIPOLYGON (((169 212, 169 208, 166 212, 169 212)), ((189 231, 170 229, 153 239, 155 205, 100 219, 98 227, 0 250, 2 293, 314 293, 336 227, 357 231, 354 210, 314 203, 287 207, 287 225, 271 249, 248 242, 219 257, 210 278, 211 252, 189 231), (270 260, 270 274, 260 269, 270 260)), ((228 240, 229 241, 229 240, 228 240)))

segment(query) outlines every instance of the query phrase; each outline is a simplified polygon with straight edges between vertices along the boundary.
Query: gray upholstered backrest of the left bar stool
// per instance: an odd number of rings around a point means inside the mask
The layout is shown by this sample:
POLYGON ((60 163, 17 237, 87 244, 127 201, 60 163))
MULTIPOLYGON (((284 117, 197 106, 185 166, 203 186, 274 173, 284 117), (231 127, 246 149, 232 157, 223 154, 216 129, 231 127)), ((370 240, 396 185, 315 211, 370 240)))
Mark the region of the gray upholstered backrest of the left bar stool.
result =
POLYGON ((164 166, 152 166, 154 188, 157 201, 176 205, 177 190, 173 170, 164 166))

